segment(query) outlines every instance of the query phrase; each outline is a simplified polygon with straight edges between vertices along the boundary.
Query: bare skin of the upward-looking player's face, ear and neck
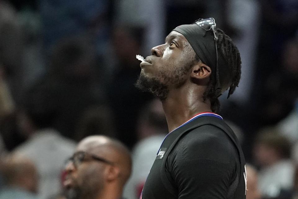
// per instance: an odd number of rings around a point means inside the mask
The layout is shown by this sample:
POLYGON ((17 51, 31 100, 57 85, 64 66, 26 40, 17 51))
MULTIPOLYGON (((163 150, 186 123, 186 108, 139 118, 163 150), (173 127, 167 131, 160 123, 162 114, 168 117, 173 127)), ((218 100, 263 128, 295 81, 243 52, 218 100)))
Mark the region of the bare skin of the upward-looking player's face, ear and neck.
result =
POLYGON ((197 113, 211 112, 210 100, 203 99, 211 69, 195 60, 195 52, 182 34, 172 31, 165 44, 152 48, 151 53, 140 64, 140 76, 155 78, 167 87, 162 104, 169 132, 197 113), (178 73, 181 69, 185 71, 178 73))

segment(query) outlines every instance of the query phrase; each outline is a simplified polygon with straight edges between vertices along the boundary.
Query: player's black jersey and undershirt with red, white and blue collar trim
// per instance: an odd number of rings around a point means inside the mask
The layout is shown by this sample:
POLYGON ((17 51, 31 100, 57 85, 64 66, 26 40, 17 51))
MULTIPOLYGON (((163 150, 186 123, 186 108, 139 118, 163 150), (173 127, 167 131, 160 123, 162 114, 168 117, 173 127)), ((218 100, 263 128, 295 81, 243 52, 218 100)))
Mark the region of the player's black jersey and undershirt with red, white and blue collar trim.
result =
POLYGON ((169 133, 141 198, 245 199, 245 160, 231 128, 220 118, 203 116, 169 133))

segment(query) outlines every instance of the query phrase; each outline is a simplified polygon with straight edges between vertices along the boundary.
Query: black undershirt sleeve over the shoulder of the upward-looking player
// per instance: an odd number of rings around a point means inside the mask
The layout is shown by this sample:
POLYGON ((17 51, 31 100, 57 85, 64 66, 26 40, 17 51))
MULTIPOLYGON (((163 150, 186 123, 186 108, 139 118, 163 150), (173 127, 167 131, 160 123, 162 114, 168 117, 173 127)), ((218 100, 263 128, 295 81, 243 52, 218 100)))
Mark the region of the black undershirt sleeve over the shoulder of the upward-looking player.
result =
POLYGON ((168 156, 166 170, 180 195, 225 198, 237 163, 237 149, 228 135, 215 126, 204 125, 187 132, 176 143, 168 156))

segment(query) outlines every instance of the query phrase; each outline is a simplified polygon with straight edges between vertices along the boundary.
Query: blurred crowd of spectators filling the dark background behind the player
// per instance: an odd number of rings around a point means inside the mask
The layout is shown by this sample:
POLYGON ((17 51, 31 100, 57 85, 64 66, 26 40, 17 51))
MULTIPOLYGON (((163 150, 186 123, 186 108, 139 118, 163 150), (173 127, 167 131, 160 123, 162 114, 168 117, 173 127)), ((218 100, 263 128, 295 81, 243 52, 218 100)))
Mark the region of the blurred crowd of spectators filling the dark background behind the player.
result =
POLYGON ((93 183, 86 190, 117 187, 137 199, 168 129, 161 102, 134 86, 135 56, 209 17, 242 58, 239 87, 220 97, 219 114, 242 143, 246 198, 297 199, 298 0, 0 0, 0 199, 75 198, 65 160, 82 164, 75 152, 94 135, 114 143, 95 150, 106 160, 128 147, 132 172, 123 189, 129 166, 106 163, 104 177, 82 177, 93 183))

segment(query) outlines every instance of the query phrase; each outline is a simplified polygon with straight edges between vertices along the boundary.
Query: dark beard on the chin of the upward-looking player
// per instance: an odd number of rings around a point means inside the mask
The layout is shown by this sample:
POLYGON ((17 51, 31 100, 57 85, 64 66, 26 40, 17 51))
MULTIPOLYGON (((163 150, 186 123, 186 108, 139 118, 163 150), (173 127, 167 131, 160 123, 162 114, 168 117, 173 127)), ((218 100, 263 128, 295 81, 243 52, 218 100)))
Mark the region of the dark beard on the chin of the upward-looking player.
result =
POLYGON ((147 78, 144 75, 140 75, 135 86, 143 92, 150 92, 161 101, 167 98, 169 89, 166 85, 162 84, 156 77, 147 78))

